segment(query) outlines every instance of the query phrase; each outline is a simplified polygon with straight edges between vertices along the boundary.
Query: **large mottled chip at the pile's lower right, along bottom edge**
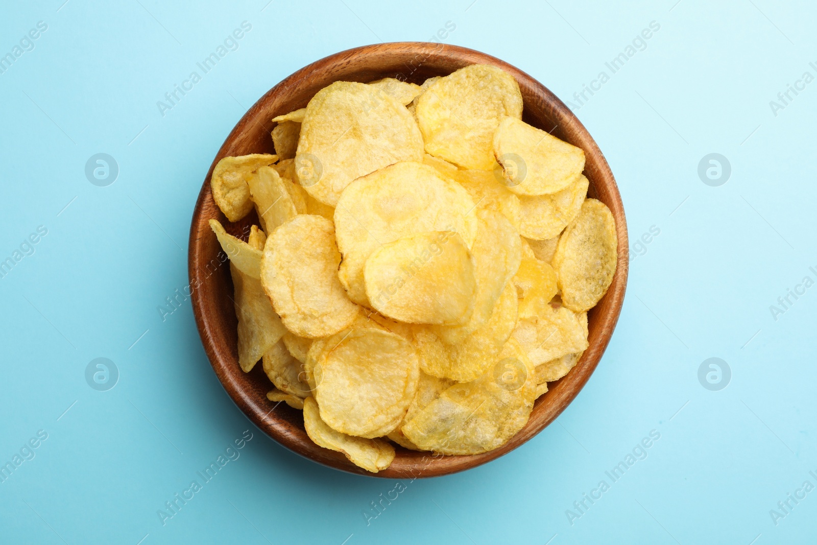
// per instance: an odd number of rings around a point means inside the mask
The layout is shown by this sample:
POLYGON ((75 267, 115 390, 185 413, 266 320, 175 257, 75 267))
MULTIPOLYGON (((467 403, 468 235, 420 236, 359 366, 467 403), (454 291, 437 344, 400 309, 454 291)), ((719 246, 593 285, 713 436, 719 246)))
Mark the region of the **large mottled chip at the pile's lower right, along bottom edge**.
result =
POLYGON ((419 449, 435 453, 488 452, 525 426, 536 390, 533 365, 509 339, 482 376, 443 391, 402 431, 419 449))

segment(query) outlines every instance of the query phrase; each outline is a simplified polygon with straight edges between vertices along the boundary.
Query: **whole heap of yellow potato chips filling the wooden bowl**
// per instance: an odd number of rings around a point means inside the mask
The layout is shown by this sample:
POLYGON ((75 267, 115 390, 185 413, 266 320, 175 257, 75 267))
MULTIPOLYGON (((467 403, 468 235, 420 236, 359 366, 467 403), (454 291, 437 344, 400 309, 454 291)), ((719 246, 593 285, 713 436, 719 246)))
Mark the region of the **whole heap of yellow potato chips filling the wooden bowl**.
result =
POLYGON ((393 443, 505 444, 587 349, 617 259, 583 150, 521 120, 509 74, 336 82, 274 118, 277 154, 225 157, 211 220, 230 257, 239 364, 368 471, 393 443))

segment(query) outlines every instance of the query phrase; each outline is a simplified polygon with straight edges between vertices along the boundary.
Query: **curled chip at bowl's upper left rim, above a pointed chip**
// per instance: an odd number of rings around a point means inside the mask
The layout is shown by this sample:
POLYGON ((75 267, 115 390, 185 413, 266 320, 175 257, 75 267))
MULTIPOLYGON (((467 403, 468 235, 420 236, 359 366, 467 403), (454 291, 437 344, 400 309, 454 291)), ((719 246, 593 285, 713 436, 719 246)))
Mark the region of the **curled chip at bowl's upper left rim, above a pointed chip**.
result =
POLYGON ((239 221, 252 210, 248 179, 260 167, 278 160, 277 155, 251 154, 225 157, 212 170, 212 199, 230 221, 239 221))

